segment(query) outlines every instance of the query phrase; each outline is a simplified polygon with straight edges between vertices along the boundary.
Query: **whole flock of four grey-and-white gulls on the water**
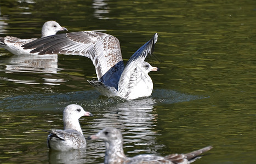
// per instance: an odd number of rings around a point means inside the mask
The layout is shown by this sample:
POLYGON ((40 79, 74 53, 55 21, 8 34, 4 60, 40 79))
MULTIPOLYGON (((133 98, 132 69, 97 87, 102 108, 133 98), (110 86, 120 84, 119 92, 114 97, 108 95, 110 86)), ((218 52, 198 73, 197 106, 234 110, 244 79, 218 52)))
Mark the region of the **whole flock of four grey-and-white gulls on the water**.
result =
MULTIPOLYGON (((65 54, 86 56, 92 60, 98 80, 88 80, 102 95, 118 96, 123 99, 148 97, 153 90, 153 83, 148 73, 159 71, 152 67, 145 58, 152 54, 158 34, 141 46, 123 63, 119 40, 110 34, 81 31, 56 34, 67 31, 58 22, 47 21, 42 27, 42 38, 20 39, 16 37, 0 37, 0 48, 15 55, 65 54)), ((47 137, 49 149, 56 151, 72 151, 85 149, 86 138, 83 136, 79 118, 93 116, 81 106, 71 104, 64 109, 64 130, 50 130, 47 137)), ((187 154, 171 154, 157 156, 141 154, 127 157, 123 151, 123 137, 117 128, 106 127, 100 132, 89 136, 87 140, 99 139, 105 142, 105 163, 191 163, 201 154, 212 149, 205 147, 187 154)))

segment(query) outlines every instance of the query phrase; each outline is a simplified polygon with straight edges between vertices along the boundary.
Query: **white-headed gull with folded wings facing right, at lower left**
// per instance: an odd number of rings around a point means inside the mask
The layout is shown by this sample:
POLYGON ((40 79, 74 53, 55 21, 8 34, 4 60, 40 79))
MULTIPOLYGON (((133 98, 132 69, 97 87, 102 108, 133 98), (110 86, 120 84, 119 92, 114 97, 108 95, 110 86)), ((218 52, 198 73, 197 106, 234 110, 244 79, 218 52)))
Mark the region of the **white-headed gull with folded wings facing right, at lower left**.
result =
POLYGON ((76 104, 67 106, 63 112, 64 130, 48 131, 48 148, 58 151, 86 148, 86 139, 78 120, 81 116, 93 115, 76 104))

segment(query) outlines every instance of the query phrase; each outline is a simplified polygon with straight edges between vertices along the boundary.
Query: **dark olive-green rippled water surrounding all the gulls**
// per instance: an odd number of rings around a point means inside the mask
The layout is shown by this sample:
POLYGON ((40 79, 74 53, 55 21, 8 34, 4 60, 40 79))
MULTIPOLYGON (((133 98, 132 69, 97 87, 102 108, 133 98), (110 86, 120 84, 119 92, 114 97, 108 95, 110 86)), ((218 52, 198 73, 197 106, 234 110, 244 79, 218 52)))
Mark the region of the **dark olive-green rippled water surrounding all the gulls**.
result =
POLYGON ((255 163, 256 1, 0 1, 0 36, 40 37, 45 21, 69 32, 120 39, 125 61, 157 32, 152 96, 101 97, 81 56, 15 56, 0 49, 1 163, 102 163, 104 143, 56 153, 47 133, 77 103, 84 136, 120 128, 127 156, 187 153, 212 145, 195 163, 255 163))

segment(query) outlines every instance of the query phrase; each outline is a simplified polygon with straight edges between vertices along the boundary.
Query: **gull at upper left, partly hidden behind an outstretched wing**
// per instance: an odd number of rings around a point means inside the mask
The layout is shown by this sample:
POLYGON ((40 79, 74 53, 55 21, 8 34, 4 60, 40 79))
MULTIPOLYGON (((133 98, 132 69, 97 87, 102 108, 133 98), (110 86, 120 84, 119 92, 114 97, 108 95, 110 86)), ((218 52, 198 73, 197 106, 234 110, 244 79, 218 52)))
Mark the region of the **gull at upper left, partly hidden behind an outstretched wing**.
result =
MULTIPOLYGON (((42 27, 42 37, 52 36, 58 31, 67 31, 67 28, 61 27, 58 22, 47 21, 43 24, 42 27)), ((31 50, 24 50, 21 45, 32 42, 37 38, 31 39, 20 39, 16 37, 0 37, 0 48, 4 48, 12 52, 15 55, 36 55, 35 53, 30 53, 31 50)))

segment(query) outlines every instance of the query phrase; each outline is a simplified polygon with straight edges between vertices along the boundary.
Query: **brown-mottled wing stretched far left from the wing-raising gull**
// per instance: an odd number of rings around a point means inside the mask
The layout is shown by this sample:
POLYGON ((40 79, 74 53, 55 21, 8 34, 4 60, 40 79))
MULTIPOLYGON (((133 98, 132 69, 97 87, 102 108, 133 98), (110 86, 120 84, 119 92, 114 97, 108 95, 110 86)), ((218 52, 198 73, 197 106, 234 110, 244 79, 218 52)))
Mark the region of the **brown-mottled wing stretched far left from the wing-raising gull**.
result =
MULTIPOLYGON (((81 55, 89 57, 95 66, 98 80, 103 83, 107 80, 104 74, 112 75, 113 67, 124 65, 119 40, 106 33, 95 31, 71 32, 43 37, 23 45, 24 49, 33 49, 31 52, 42 54, 81 55)), ((113 74, 116 73, 114 69, 113 74)), ((117 74, 121 74, 119 71, 117 74)), ((107 76, 109 77, 109 76, 107 76)))

